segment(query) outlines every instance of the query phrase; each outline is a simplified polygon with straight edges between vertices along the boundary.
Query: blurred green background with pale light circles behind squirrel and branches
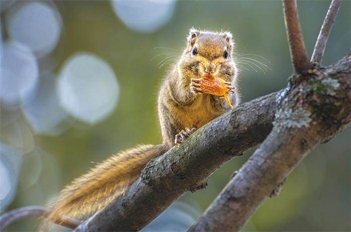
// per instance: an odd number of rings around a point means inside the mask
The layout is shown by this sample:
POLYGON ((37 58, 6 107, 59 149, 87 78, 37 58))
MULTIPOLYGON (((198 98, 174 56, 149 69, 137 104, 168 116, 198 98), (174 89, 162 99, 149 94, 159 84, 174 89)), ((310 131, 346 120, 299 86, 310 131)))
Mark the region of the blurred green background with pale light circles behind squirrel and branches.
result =
MULTIPOLYGON (((311 54, 330 1, 299 1, 311 54)), ((351 51, 343 1, 323 64, 351 51)), ((229 30, 242 101, 292 73, 281 1, 0 1, 1 213, 45 205, 73 178, 136 144, 159 144, 156 96, 191 27, 229 30)), ((252 154, 186 193, 145 231, 185 231, 252 154)), ((39 220, 9 231, 34 231, 39 220)), ((54 230, 64 230, 56 226, 54 230)), ((319 145, 245 231, 349 231, 350 129, 319 145)))

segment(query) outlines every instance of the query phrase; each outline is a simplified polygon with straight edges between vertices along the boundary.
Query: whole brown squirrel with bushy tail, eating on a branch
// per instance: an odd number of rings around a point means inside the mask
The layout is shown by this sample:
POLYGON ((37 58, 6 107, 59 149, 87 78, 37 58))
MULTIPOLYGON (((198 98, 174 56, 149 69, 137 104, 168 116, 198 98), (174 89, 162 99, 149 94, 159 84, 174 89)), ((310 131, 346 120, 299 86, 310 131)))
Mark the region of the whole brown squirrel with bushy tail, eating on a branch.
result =
MULTIPOLYGON (((238 69, 233 58, 230 32, 190 29, 187 46, 174 64, 158 93, 158 118, 163 142, 140 145, 120 152, 66 186, 54 203, 42 228, 59 221, 62 215, 82 219, 122 194, 152 158, 180 145, 200 128, 228 111, 224 97, 203 93, 200 77, 211 74, 224 79, 230 100, 239 103, 238 69)), ((46 230, 46 229, 44 229, 46 230)))

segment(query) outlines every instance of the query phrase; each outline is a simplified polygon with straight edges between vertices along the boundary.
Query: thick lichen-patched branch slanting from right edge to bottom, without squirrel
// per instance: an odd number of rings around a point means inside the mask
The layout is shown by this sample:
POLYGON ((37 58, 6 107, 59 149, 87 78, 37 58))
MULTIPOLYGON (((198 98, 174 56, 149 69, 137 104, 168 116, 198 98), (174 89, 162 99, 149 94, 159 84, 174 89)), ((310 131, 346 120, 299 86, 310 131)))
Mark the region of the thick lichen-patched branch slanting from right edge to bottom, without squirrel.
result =
POLYGON ((290 82, 272 132, 189 231, 239 231, 311 149, 351 123, 351 55, 290 82))

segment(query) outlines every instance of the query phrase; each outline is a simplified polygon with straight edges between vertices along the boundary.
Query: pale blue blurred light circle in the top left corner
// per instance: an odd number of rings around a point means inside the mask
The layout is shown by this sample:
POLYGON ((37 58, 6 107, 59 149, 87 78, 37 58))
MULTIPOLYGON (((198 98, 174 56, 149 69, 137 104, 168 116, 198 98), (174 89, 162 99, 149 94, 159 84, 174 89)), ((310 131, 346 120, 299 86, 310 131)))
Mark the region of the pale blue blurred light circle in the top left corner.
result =
POLYGON ((61 34, 61 17, 54 7, 41 2, 29 2, 14 8, 7 15, 9 35, 27 45, 37 55, 50 53, 61 34))

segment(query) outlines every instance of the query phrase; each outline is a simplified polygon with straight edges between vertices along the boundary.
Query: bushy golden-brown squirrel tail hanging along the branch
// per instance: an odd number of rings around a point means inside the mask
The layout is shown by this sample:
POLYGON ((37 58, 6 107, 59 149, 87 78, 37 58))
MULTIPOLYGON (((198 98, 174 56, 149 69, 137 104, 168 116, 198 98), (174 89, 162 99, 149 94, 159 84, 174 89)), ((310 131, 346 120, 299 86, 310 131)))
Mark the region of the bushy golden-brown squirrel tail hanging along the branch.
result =
POLYGON ((66 186, 42 226, 47 230, 62 215, 81 219, 106 206, 135 181, 152 158, 166 151, 164 145, 140 145, 114 155, 66 186))

